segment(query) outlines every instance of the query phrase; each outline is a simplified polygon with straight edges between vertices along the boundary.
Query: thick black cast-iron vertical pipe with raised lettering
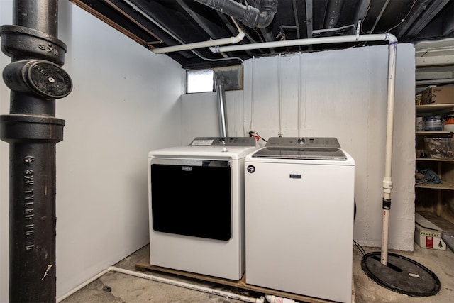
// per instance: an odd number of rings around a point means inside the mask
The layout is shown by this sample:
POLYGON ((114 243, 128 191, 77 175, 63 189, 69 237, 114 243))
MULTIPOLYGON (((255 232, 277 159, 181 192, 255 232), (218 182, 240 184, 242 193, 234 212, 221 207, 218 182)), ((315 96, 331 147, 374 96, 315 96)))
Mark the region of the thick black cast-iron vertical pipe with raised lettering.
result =
POLYGON ((10 114, 0 116, 9 143, 9 301, 55 302, 55 144, 65 121, 55 99, 72 82, 61 69, 66 45, 57 39, 58 0, 16 0, 13 26, 1 26, 11 57, 3 78, 10 114))

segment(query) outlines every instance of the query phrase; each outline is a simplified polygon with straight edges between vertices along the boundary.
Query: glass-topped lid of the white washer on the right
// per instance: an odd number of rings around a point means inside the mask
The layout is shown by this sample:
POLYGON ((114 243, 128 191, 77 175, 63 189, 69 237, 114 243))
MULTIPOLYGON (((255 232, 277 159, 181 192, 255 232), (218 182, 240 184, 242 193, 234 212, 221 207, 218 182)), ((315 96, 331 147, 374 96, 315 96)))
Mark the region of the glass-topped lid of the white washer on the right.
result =
POLYGON ((304 159, 304 160, 347 160, 340 148, 262 148, 253 158, 304 159))

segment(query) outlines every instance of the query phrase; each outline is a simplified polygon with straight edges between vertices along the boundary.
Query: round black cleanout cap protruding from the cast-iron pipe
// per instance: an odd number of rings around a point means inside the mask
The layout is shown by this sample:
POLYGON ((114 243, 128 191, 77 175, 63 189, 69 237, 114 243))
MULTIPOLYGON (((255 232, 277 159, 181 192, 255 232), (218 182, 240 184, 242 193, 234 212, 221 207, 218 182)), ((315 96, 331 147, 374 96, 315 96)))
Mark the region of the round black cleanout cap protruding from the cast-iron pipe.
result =
POLYGON ((47 60, 19 60, 6 65, 3 79, 13 92, 60 99, 70 94, 72 81, 62 67, 47 60))

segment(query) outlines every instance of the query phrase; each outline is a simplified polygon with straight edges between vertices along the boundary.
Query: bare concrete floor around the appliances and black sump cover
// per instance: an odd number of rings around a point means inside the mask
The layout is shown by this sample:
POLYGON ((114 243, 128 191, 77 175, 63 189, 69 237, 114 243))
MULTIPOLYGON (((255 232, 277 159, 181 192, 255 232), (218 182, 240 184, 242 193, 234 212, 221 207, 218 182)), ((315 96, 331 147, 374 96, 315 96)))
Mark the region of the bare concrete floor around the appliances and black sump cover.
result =
MULTIPOLYGON (((148 255, 149 246, 145 246, 115 264, 117 268, 127 270, 135 270, 135 264, 143 260, 148 255)), ((364 248, 365 253, 372 251, 380 251, 380 248, 364 248)), ((441 290, 438 294, 431 297, 409 297, 398 292, 392 292, 378 285, 365 275, 361 269, 362 253, 358 248, 353 248, 353 277, 355 281, 355 302, 371 303, 371 302, 440 302, 451 303, 454 297, 454 253, 450 250, 428 250, 420 248, 415 244, 414 252, 406 253, 401 251, 391 251, 406 258, 410 258, 421 265, 424 265, 429 270, 433 271, 441 281, 441 290)), ((175 275, 167 275, 160 272, 145 272, 151 275, 167 277, 173 280, 196 283, 204 287, 233 292, 243 296, 260 297, 263 294, 250 292, 248 290, 240 290, 235 287, 225 285, 217 285, 211 282, 200 280, 191 280, 185 277, 175 275)), ((328 287, 328 285, 327 285, 328 287)), ((235 299, 220 297, 216 294, 208 294, 189 290, 182 287, 167 285, 161 282, 145 280, 140 277, 133 277, 118 272, 107 272, 99 277, 91 284, 75 292, 70 297, 61 301, 62 303, 90 303, 90 302, 223 302, 235 303, 243 302, 235 299)))

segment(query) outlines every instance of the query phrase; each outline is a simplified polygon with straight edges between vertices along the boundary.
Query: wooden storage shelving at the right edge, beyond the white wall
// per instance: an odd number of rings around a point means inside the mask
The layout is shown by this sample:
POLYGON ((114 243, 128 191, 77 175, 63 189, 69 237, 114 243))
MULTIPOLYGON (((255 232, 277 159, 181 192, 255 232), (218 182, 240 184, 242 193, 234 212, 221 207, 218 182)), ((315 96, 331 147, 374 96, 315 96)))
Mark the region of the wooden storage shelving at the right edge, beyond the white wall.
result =
MULTIPOLYGON (((415 92, 426 87, 454 84, 453 40, 415 44, 415 92)), ((450 104, 416 105, 416 116, 454 116, 454 98, 450 104)), ((454 131, 416 131, 416 167, 437 173, 441 184, 415 185, 415 210, 445 231, 454 231, 454 160, 419 158, 425 149, 425 137, 453 137, 454 131)))

